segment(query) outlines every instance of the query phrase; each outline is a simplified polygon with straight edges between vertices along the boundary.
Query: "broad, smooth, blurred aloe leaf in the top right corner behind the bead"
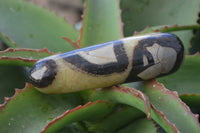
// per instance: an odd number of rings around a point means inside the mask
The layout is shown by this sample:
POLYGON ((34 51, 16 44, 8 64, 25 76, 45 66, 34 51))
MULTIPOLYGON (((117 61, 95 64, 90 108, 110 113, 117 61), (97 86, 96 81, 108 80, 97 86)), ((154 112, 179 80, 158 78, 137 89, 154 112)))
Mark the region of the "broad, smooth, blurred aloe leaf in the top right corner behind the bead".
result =
MULTIPOLYGON (((141 31, 146 26, 196 24, 199 0, 122 0, 122 20, 125 36, 141 31)), ((186 52, 190 47, 191 31, 174 32, 184 42, 186 52)))

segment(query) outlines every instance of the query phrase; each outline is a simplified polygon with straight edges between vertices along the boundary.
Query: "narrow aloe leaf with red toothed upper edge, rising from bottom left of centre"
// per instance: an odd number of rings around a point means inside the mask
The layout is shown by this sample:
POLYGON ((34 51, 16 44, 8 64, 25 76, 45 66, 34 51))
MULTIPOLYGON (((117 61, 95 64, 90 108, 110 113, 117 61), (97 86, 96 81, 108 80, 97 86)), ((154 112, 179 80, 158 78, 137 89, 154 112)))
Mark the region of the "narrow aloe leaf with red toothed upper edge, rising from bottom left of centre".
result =
POLYGON ((106 112, 109 113, 109 108, 111 107, 112 104, 101 102, 100 100, 96 102, 88 102, 83 106, 80 105, 72 110, 66 111, 61 116, 48 123, 42 132, 56 132, 72 122, 98 119, 100 116, 105 115, 106 112))

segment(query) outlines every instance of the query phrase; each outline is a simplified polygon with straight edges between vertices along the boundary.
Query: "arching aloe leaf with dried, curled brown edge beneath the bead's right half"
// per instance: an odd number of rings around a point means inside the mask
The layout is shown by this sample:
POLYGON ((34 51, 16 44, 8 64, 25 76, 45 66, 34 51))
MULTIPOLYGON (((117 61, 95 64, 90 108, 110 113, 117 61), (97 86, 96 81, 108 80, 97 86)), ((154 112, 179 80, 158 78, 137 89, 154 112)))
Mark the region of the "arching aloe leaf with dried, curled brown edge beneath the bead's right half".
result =
POLYGON ((178 132, 178 129, 173 125, 166 116, 154 108, 150 107, 149 99, 142 92, 129 87, 112 87, 102 90, 96 90, 89 95, 91 101, 100 99, 101 101, 112 101, 130 105, 134 108, 147 114, 147 118, 155 120, 166 132, 178 132))

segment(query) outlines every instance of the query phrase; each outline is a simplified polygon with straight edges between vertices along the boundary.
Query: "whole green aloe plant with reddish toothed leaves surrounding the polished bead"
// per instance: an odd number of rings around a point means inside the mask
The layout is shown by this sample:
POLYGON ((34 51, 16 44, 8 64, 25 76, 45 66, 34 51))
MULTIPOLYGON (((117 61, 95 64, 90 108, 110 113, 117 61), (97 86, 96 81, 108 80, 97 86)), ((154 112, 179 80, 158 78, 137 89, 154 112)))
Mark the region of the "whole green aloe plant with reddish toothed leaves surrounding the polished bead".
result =
POLYGON ((78 31, 33 3, 0 0, 0 40, 9 47, 0 52, 0 132, 199 133, 199 5, 87 0, 78 31), (28 68, 41 58, 152 32, 171 32, 183 41, 186 57, 178 72, 67 94, 43 94, 26 83, 28 68))

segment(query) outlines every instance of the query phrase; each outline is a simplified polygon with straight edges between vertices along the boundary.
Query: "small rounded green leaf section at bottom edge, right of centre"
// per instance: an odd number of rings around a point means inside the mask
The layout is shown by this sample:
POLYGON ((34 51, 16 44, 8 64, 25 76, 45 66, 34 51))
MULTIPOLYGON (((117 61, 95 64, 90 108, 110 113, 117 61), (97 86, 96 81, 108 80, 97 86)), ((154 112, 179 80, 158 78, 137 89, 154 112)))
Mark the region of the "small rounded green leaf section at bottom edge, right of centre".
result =
POLYGON ((134 133, 157 133, 157 128, 153 121, 141 118, 116 133, 130 133, 133 131, 134 133))

